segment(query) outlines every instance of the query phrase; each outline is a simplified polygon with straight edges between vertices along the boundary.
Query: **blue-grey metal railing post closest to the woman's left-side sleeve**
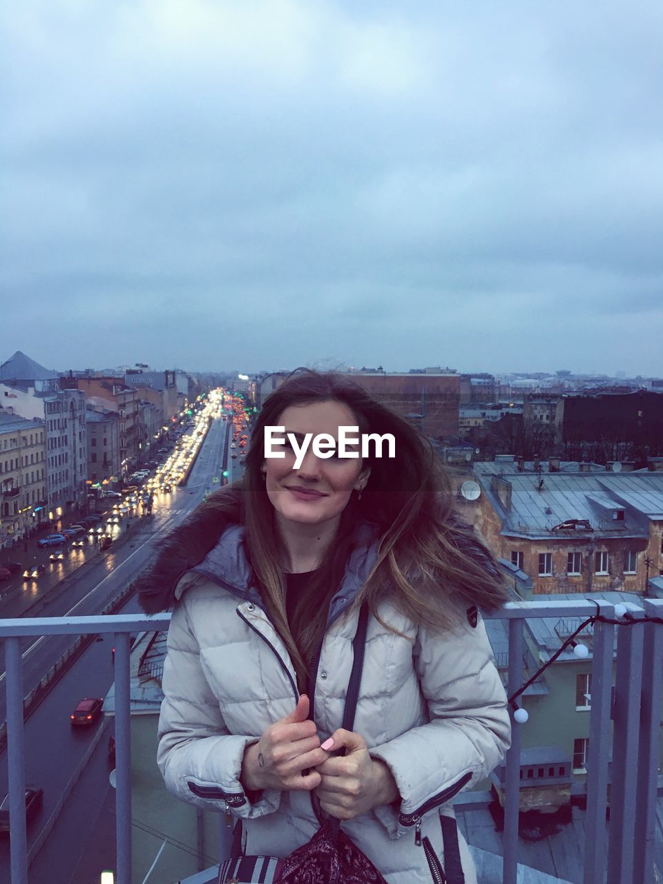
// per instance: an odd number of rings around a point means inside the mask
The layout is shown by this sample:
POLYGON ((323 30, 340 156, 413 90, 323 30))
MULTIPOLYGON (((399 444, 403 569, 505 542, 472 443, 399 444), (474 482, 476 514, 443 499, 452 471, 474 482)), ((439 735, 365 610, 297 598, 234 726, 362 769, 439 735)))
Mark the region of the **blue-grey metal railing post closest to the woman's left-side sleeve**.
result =
POLYGON ((115 808, 118 884, 131 878, 131 728, 129 650, 131 634, 116 632, 115 645, 115 808))

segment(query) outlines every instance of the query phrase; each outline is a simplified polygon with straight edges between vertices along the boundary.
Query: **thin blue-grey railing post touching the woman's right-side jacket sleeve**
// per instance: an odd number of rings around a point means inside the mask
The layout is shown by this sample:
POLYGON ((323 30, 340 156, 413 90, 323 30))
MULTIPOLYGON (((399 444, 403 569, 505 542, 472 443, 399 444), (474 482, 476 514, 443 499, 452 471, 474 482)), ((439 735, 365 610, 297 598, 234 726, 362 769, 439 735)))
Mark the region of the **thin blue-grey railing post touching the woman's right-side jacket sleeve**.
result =
MULTIPOLYGON (((509 620, 509 669, 507 694, 510 697, 522 684, 523 617, 509 620)), ((511 748, 507 751, 507 787, 504 807, 504 861, 502 880, 515 884, 518 873, 518 816, 520 812, 521 725, 511 716, 511 748)))

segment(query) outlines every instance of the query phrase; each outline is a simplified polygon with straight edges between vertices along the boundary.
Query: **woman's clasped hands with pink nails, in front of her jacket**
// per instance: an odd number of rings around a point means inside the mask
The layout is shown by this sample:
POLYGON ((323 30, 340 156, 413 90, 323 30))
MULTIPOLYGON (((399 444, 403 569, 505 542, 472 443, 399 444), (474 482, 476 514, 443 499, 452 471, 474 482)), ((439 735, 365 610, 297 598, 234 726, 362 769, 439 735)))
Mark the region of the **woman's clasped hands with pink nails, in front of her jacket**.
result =
POLYGON ((337 819, 353 819, 399 797, 389 767, 370 757, 361 735, 339 728, 321 745, 308 716, 309 697, 302 694, 292 713, 248 747, 241 772, 245 789, 315 789, 321 808, 337 819), (345 755, 332 756, 343 748, 345 755))

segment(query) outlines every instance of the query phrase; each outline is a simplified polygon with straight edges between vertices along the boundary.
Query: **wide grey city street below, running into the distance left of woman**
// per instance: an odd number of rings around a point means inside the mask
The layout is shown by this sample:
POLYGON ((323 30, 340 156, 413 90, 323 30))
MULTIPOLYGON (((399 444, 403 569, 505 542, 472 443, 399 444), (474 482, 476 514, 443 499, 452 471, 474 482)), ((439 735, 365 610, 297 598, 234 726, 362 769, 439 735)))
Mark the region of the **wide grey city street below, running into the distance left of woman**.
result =
MULTIPOLYGON (((20 616, 27 604, 43 599, 39 616, 83 615, 100 613, 111 598, 122 591, 141 572, 154 555, 156 541, 182 522, 201 501, 208 485, 221 476, 228 457, 230 422, 211 423, 192 469, 187 485, 174 488, 171 495, 155 500, 154 514, 132 520, 128 533, 122 535, 108 552, 88 557, 77 571, 68 565, 65 583, 44 598, 49 584, 39 583, 34 594, 16 587, 5 592, 0 601, 0 617, 20 616)), ((232 465, 235 461, 230 461, 232 465)), ((228 467, 227 469, 230 469, 228 467)), ((240 472, 240 468, 236 469, 240 472)), ((64 568, 63 568, 64 569, 64 568)), ((52 579, 52 578, 51 578, 52 579)), ((51 583, 52 585, 52 583, 51 583)), ((137 598, 132 597, 123 607, 123 613, 138 613, 137 598)), ((24 692, 39 682, 43 674, 72 644, 69 636, 49 639, 27 639, 23 651, 24 692)), ((56 826, 44 847, 34 859, 29 880, 49 881, 49 884, 68 884, 70 881, 98 881, 104 867, 115 865, 114 792, 108 775, 108 736, 112 721, 102 719, 95 727, 74 729, 69 715, 82 697, 104 697, 112 683, 112 655, 110 636, 99 636, 81 654, 80 658, 50 690, 42 703, 26 721, 26 782, 43 789, 43 807, 28 825, 30 845, 50 818, 67 782, 80 765, 80 759, 95 739, 97 728, 105 728, 85 772, 72 790, 60 812, 56 826), (72 851, 71 845, 80 845, 72 851), (107 865, 102 860, 108 855, 107 865), (101 865, 100 865, 101 864, 101 865)), ((0 720, 4 720, 4 667, 0 667, 0 720)), ((6 751, 0 764, 0 793, 7 789, 6 751)), ((9 880, 9 841, 0 842, 0 880, 9 880)))

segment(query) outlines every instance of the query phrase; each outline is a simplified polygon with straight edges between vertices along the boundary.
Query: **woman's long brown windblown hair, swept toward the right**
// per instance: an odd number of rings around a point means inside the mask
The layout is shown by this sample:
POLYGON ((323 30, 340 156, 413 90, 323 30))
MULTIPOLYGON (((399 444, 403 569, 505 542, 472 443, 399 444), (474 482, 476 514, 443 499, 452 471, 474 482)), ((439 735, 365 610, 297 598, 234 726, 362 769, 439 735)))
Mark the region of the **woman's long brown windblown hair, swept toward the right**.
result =
MULTIPOLYGON (((224 492, 217 492, 208 504, 226 509, 224 492)), ((454 517, 451 483, 430 442, 346 375, 296 370, 267 397, 248 447, 241 497, 248 558, 267 613, 293 659, 300 690, 308 690, 309 668, 324 636, 329 602, 342 582, 354 529, 361 520, 376 524, 380 543, 377 563, 355 604, 368 601, 388 629, 392 627, 378 613, 380 600, 387 596, 415 621, 439 629, 457 624, 465 613, 463 602, 492 611, 508 598, 492 554, 454 517), (263 429, 278 425, 290 406, 327 400, 350 408, 360 434, 391 433, 395 456, 364 459, 362 466, 370 466, 371 472, 362 499, 353 494, 348 502, 337 537, 288 623, 280 564, 284 548, 261 476, 263 429)))

